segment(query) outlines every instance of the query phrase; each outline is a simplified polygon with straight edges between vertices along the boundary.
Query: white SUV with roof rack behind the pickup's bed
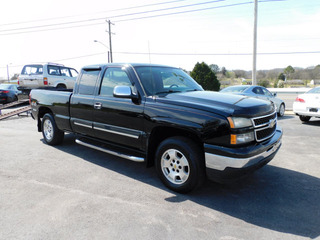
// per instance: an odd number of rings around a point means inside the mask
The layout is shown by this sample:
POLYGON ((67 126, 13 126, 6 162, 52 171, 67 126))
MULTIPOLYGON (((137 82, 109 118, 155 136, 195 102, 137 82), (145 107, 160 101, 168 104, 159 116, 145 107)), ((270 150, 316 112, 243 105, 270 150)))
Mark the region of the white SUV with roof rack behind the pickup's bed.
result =
POLYGON ((62 64, 29 64, 22 68, 18 84, 21 87, 56 87, 73 89, 78 76, 77 70, 62 64))

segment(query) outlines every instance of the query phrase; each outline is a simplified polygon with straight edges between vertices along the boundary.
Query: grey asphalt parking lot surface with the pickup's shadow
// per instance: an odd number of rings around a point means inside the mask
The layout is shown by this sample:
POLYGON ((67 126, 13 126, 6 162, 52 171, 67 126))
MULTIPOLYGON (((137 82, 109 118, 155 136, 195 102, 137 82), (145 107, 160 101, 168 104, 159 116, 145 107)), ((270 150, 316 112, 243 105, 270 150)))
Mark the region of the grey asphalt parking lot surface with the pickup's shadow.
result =
POLYGON ((77 145, 51 147, 30 117, 0 121, 0 239, 320 239, 320 119, 279 119, 267 166, 188 195, 153 168, 77 145))

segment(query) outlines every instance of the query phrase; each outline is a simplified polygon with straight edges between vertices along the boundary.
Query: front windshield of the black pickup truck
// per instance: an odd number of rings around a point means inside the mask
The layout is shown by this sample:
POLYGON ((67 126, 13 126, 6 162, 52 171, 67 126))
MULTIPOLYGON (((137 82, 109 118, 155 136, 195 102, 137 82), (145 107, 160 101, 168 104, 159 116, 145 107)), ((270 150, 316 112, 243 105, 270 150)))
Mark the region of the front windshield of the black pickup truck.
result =
POLYGON ((187 73, 170 67, 136 67, 148 96, 174 92, 202 91, 202 87, 187 73))

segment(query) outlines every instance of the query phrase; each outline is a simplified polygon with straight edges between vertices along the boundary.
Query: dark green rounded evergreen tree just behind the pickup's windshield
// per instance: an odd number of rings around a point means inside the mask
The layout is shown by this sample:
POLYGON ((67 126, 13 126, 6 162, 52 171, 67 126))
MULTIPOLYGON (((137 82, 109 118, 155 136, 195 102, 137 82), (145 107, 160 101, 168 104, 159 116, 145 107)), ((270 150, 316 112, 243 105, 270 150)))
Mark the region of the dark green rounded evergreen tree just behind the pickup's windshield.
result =
POLYGON ((211 91, 220 90, 220 82, 218 81, 216 74, 210 69, 210 67, 206 63, 198 62, 194 66, 190 75, 205 90, 211 90, 211 91))

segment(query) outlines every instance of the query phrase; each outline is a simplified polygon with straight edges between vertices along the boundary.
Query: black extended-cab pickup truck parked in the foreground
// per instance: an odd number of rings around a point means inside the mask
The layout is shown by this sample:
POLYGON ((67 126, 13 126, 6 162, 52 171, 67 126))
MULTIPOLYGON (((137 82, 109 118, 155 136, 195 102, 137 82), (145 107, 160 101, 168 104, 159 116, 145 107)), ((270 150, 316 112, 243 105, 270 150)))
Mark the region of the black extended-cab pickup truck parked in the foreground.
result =
POLYGON ((47 144, 74 133, 84 146, 155 165, 177 192, 199 187, 206 177, 242 177, 271 161, 281 146, 273 103, 204 91, 168 66, 86 66, 73 92, 32 90, 30 101, 47 144))

